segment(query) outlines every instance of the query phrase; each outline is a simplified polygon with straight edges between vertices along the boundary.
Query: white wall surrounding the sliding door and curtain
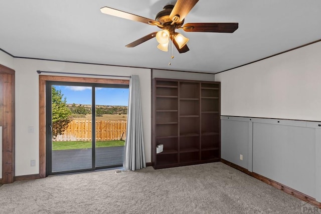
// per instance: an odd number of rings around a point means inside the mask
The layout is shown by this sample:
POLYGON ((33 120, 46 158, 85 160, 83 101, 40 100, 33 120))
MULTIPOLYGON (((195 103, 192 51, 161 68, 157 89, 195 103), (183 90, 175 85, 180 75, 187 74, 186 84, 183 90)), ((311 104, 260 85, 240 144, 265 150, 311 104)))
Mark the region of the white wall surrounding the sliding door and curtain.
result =
POLYGON ((39 75, 37 70, 119 76, 138 75, 143 111, 145 156, 146 162, 151 162, 150 69, 19 58, 14 59, 14 69, 16 70, 16 176, 39 173, 39 75), (29 126, 35 127, 34 133, 28 133, 29 126), (32 159, 36 160, 36 167, 30 166, 32 159))

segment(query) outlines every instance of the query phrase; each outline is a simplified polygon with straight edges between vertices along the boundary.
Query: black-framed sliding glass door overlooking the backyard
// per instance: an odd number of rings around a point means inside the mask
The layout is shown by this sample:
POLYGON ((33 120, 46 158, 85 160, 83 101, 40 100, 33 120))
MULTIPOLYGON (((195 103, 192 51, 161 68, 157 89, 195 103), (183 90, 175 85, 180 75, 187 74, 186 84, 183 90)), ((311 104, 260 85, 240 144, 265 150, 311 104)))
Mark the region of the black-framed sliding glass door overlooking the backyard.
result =
POLYGON ((47 174, 121 166, 128 85, 47 82, 47 174))

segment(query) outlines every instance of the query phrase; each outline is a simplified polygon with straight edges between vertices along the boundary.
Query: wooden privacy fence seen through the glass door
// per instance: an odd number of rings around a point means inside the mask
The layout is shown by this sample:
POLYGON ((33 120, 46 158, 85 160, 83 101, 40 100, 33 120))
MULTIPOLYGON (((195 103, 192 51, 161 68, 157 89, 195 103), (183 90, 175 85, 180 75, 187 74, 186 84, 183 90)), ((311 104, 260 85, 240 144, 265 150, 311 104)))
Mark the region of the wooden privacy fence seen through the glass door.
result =
MULTIPOLYGON (((126 137, 126 121, 96 121, 96 140, 122 140, 126 137)), ((91 140, 91 120, 72 120, 65 131, 53 138, 53 141, 91 140)), ((53 124, 53 128, 55 124, 53 124)))

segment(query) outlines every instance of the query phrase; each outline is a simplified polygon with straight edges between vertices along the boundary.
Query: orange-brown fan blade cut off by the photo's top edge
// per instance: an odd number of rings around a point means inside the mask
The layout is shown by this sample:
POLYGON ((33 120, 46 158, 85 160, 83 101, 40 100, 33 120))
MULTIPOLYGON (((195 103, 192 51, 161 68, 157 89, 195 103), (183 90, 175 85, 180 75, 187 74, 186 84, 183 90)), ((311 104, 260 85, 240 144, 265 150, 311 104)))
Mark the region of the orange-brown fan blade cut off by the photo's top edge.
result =
POLYGON ((170 14, 170 19, 174 22, 182 22, 198 1, 199 0, 178 0, 170 14), (179 19, 174 20, 175 16, 178 16, 179 19))

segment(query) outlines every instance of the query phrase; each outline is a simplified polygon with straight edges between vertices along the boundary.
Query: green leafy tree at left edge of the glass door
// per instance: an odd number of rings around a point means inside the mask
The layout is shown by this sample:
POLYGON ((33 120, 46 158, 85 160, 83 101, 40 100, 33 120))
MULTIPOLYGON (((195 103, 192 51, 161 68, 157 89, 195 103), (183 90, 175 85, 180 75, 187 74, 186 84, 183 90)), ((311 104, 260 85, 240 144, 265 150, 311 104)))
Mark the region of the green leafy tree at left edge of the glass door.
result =
POLYGON ((52 87, 52 135, 54 138, 62 134, 70 123, 71 111, 66 105, 66 97, 61 90, 52 87))

